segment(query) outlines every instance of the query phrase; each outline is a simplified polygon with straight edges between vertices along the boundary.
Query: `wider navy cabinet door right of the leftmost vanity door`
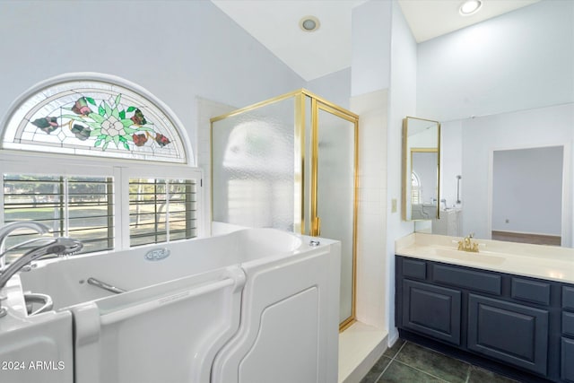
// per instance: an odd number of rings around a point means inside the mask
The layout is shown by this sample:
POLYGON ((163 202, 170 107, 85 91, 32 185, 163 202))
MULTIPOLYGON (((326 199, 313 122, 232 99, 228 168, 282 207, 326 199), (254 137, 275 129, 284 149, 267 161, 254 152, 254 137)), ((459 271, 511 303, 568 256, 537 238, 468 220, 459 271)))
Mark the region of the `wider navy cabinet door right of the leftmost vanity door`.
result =
POLYGON ((548 311, 469 294, 468 348, 545 375, 548 311))

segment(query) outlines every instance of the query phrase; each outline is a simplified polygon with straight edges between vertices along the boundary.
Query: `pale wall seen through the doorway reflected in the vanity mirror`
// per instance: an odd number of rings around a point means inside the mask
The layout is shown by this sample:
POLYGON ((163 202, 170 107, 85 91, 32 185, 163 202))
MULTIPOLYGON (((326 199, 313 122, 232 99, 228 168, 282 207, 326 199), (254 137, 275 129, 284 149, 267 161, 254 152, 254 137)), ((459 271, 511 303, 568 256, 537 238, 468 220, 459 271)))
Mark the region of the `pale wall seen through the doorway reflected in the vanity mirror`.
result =
POLYGON ((563 153, 563 146, 493 153, 493 231, 561 236, 563 153))

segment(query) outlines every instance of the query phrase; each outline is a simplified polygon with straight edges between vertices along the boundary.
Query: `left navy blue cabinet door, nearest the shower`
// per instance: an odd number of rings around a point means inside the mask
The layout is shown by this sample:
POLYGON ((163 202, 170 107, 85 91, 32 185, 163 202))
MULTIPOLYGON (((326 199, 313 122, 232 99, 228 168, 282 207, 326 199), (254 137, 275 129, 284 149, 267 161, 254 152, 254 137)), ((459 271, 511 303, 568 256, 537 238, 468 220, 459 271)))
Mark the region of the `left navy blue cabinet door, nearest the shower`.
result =
POLYGON ((403 281, 404 328, 460 345, 461 292, 403 281))

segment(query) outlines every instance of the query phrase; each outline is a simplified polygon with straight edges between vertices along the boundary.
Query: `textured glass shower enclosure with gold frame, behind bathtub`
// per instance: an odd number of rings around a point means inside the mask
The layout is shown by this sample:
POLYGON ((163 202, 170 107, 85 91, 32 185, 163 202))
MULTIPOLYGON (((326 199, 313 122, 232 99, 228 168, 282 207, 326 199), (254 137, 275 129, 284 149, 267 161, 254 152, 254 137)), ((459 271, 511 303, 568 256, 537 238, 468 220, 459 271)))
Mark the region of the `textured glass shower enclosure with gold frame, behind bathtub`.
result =
POLYGON ((211 119, 212 227, 341 241, 341 329, 355 317, 359 117, 301 89, 211 119))

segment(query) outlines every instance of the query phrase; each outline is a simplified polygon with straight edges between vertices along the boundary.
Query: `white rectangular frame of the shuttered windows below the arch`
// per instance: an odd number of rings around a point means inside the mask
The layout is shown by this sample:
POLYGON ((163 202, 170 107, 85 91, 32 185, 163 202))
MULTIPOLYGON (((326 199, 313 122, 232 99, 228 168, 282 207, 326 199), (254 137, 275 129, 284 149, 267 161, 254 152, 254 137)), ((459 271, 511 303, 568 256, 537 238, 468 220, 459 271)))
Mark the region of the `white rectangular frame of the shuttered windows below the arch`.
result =
MULTIPOLYGON (((200 168, 177 163, 154 161, 122 161, 118 159, 66 156, 48 152, 0 151, 0 171, 16 174, 54 176, 113 177, 114 185, 114 248, 101 253, 130 248, 129 178, 196 179, 197 236, 205 235, 203 216, 203 172, 200 168)), ((0 224, 4 224, 4 187, 0 187, 0 224)), ((181 239, 185 240, 185 239, 181 239)), ((164 242, 165 243, 165 242, 164 242)), ((158 244, 142 245, 157 246, 158 244)), ((94 252, 91 254, 98 254, 94 252)))

